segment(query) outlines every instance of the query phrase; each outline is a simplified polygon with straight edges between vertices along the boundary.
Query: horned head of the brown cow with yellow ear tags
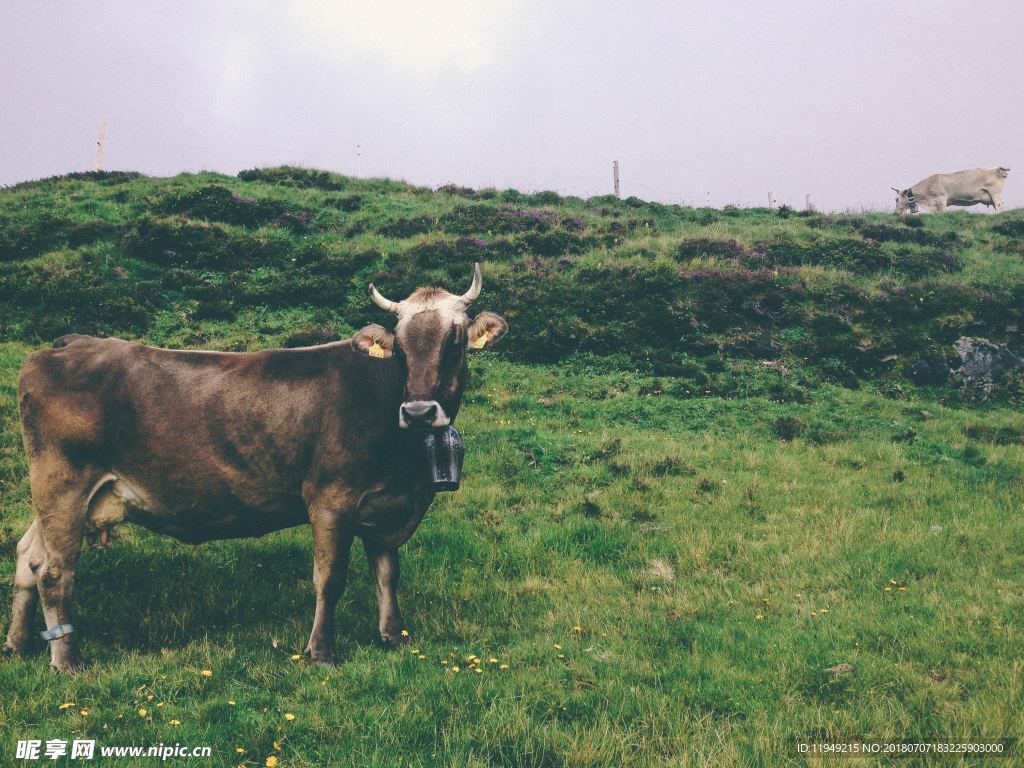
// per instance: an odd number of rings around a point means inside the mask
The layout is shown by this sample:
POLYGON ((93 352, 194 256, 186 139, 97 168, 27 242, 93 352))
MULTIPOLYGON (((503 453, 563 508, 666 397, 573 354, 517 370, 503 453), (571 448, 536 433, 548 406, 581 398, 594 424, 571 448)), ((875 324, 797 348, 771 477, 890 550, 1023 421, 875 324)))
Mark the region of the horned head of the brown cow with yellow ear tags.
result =
POLYGON ((396 357, 404 366, 406 396, 398 409, 402 429, 446 427, 459 410, 466 382, 466 355, 493 346, 508 330, 494 312, 471 318, 466 309, 480 293, 480 265, 473 285, 461 296, 439 288, 420 288, 404 301, 385 299, 370 286, 382 309, 398 316, 394 333, 376 324, 352 339, 371 357, 396 357))

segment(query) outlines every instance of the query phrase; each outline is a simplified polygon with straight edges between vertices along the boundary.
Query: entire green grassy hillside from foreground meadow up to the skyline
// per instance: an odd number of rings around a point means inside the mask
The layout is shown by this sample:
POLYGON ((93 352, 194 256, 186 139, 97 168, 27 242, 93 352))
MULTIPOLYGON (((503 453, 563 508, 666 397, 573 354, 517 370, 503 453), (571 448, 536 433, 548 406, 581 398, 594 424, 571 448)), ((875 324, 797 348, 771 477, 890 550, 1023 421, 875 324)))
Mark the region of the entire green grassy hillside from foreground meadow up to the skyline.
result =
POLYGON ((293 658, 306 528, 187 547, 125 526, 79 571, 93 666, 0 662, 0 764, 18 738, 86 737, 214 748, 181 765, 774 766, 806 764, 798 740, 1024 733, 1020 383, 972 408, 902 376, 962 334, 1020 351, 1022 243, 1019 213, 295 169, 0 190, 5 585, 31 518, 14 382, 34 345, 306 344, 386 322, 369 281, 465 290, 476 260, 477 304, 511 325, 471 362, 463 488, 402 550, 410 648, 374 644, 354 556, 342 664, 293 658))

